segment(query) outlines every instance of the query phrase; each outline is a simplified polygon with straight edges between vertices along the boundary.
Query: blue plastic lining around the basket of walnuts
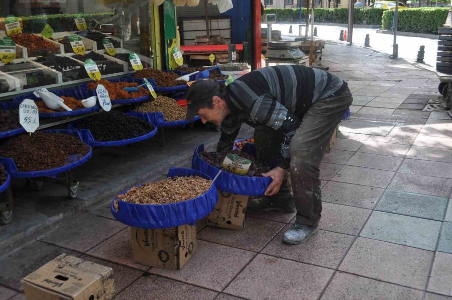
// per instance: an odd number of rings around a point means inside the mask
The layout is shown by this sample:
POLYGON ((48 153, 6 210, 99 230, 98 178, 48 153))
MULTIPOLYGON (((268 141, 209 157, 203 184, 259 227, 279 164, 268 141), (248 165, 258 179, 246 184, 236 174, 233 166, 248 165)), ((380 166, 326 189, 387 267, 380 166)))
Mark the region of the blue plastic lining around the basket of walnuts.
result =
MULTIPOLYGON (((212 180, 210 176, 191 169, 170 168, 168 172, 168 177, 192 175, 212 180)), ((125 192, 127 190, 121 194, 125 192)), ((197 220, 213 211, 218 201, 218 193, 212 184, 206 193, 179 203, 143 205, 118 201, 118 211, 114 207, 116 199, 111 203, 111 213, 116 220, 133 227, 159 229, 185 224, 194 225, 197 220)))

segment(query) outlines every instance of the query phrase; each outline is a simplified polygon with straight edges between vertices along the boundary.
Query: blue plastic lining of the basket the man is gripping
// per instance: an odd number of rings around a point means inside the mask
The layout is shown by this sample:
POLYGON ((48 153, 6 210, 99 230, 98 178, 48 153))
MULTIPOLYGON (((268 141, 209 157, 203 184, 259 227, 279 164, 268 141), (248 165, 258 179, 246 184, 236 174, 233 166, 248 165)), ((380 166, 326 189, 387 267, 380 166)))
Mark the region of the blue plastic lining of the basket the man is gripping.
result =
MULTIPOLYGON (((215 177, 219 169, 205 162, 199 153, 204 151, 204 145, 199 145, 194 153, 191 167, 195 170, 206 173, 210 177, 215 177)), ((261 196, 269 186, 272 179, 270 177, 249 177, 241 176, 226 171, 222 171, 215 180, 216 188, 240 195, 261 196)))

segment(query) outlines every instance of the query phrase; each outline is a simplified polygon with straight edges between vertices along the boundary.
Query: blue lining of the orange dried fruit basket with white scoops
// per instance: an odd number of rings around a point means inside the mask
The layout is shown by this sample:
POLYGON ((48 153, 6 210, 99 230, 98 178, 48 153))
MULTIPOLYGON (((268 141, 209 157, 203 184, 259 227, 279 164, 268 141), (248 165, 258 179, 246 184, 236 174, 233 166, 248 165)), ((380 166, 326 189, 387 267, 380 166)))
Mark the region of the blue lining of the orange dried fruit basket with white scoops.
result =
MULTIPOLYGON (((76 89, 76 88, 65 88, 65 89, 55 89, 51 90, 57 96, 66 96, 66 97, 74 97, 78 100, 83 100, 89 98, 91 96, 95 96, 96 92, 91 89, 76 89)), ((25 95, 20 95, 14 98, 14 101, 17 103, 21 103, 24 99, 32 99, 34 102, 42 101, 40 97, 37 97, 34 93, 28 93, 25 95)), ((64 111, 64 112, 54 112, 54 113, 39 113, 39 118, 62 118, 62 117, 72 117, 79 116, 84 114, 89 114, 93 112, 97 112, 99 110, 99 105, 96 103, 92 108, 80 108, 77 110, 73 110, 72 112, 64 111)))

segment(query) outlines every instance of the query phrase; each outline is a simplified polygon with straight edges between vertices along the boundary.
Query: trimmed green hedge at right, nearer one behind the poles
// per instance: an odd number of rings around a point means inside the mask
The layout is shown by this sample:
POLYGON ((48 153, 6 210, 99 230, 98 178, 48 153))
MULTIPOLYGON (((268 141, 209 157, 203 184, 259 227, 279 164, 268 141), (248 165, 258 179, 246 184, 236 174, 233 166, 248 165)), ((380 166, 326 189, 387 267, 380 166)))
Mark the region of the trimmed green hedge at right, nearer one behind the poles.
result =
MULTIPOLYGON (((438 27, 445 23, 449 8, 413 8, 400 10, 397 30, 406 32, 437 34, 438 27)), ((391 30, 394 11, 383 14, 383 29, 391 30)))

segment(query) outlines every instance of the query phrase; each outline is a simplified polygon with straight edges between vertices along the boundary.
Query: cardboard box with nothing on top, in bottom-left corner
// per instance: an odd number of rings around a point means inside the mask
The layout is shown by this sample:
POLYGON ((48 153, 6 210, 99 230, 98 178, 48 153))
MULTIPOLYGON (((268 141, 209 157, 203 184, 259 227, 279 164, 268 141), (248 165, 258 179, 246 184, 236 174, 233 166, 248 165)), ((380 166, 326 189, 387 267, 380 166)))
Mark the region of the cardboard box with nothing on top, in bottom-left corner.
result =
POLYGON ((22 283, 28 300, 107 300, 115 293, 110 267, 64 253, 22 279, 22 283))

